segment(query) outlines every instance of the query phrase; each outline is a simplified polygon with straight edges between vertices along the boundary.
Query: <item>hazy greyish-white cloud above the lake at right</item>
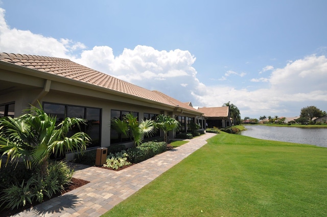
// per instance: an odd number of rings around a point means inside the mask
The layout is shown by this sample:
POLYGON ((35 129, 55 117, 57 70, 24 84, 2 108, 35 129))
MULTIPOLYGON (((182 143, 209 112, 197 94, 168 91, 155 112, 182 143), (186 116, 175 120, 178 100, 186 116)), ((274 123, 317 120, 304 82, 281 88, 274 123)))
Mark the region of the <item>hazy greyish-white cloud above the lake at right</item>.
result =
MULTIPOLYGON (((326 105, 327 58, 308 56, 274 69, 269 79, 252 79, 267 82, 267 88, 257 90, 237 89, 230 86, 206 86, 202 95, 193 92, 200 104, 222 105, 228 101, 237 105, 244 114, 294 115, 294 104, 326 105), (210 94, 210 93, 217 94, 210 94)), ((300 107, 300 108, 302 108, 300 107)), ((297 108, 299 115, 300 108, 297 108)), ((320 108, 326 110, 326 108, 320 108)))

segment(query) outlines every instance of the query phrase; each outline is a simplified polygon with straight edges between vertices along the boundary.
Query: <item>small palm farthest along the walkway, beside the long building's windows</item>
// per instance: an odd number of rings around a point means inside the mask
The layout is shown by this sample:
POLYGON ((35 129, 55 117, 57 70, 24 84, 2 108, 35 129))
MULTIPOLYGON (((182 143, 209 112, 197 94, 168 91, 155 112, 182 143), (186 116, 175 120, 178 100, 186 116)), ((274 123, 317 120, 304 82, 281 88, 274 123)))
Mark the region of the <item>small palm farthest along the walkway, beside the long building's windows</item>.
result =
POLYGON ((159 129, 161 129, 162 131, 164 131, 164 134, 165 134, 164 141, 169 143, 168 132, 171 130, 178 129, 180 126, 180 123, 178 120, 176 120, 175 118, 173 118, 171 116, 159 114, 156 118, 156 126, 159 129))

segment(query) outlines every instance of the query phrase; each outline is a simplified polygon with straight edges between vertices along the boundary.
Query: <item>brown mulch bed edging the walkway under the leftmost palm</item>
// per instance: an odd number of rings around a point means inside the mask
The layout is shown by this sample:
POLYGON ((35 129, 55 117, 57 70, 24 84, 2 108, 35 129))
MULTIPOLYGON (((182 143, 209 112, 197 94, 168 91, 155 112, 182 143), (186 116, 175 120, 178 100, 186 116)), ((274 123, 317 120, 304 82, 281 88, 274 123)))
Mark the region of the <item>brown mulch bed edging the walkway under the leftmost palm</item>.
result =
MULTIPOLYGON (((60 195, 63 195, 65 194, 66 192, 69 192, 71 190, 74 190, 78 187, 81 187, 85 184, 89 183, 89 181, 85 181, 85 180, 82 180, 82 179, 76 179, 76 178, 72 178, 72 183, 70 185, 68 185, 65 189, 63 189, 60 193, 54 195, 52 198, 56 198, 60 195)), ((46 198, 44 199, 43 201, 48 201, 52 198, 46 198)), ((33 204, 28 204, 24 207, 18 207, 17 209, 4 209, 4 210, 0 210, 0 217, 7 217, 7 216, 11 216, 11 215, 14 215, 18 212, 21 212, 25 209, 29 209, 29 208, 32 208, 33 206, 36 206, 38 205, 39 203, 37 202, 34 202, 33 204)))

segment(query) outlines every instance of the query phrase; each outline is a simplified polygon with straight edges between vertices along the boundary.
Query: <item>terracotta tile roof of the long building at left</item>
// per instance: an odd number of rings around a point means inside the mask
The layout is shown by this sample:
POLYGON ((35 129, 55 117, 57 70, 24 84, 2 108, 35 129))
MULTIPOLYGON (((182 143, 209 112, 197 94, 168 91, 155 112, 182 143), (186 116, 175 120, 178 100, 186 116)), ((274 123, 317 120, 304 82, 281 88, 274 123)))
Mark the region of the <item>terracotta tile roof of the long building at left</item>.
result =
POLYGON ((99 87, 104 87, 110 90, 127 93, 129 95, 133 95, 134 97, 151 100, 169 106, 181 107, 191 111, 197 111, 193 107, 188 106, 174 98, 171 98, 164 93, 139 87, 129 82, 101 73, 100 71, 96 71, 94 69, 80 65, 69 59, 36 55, 0 53, 0 61, 36 69, 43 71, 44 73, 73 79, 99 87))

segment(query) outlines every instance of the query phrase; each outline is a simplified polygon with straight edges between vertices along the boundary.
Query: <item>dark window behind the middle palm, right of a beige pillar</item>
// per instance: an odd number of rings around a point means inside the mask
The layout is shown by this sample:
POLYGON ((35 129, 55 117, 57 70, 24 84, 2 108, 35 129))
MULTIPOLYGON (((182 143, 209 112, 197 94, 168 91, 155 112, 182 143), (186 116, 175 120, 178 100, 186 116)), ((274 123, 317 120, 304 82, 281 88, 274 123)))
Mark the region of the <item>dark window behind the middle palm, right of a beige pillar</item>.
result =
MULTIPOLYGON (((138 112, 120 111, 120 110, 111 110, 111 119, 119 118, 122 120, 124 115, 128 113, 131 113, 138 119, 138 112)), ((128 141, 131 141, 129 136, 125 136, 124 134, 118 133, 116 130, 110 128, 110 144, 128 142, 128 141)))

